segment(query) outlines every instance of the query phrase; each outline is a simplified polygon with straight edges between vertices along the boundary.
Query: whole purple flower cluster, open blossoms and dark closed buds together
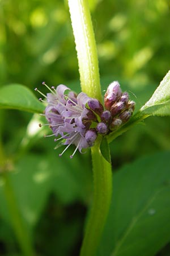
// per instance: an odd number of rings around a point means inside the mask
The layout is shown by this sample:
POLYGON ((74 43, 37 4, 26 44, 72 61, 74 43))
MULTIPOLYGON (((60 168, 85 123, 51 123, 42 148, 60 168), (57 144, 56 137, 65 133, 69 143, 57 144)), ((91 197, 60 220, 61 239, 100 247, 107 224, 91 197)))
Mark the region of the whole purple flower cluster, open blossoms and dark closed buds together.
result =
POLYGON ((83 92, 75 94, 65 85, 50 89, 45 82, 42 84, 50 93, 45 96, 37 88, 35 90, 46 98, 48 104, 44 113, 48 121, 46 125, 52 129, 52 135, 59 136, 54 141, 65 140, 63 144, 67 146, 63 152, 71 144, 76 146, 70 158, 77 150, 82 152, 83 148, 93 146, 98 134, 109 134, 128 121, 134 110, 135 102, 129 100, 128 93, 121 92, 118 82, 109 85, 104 96, 104 106, 83 92))

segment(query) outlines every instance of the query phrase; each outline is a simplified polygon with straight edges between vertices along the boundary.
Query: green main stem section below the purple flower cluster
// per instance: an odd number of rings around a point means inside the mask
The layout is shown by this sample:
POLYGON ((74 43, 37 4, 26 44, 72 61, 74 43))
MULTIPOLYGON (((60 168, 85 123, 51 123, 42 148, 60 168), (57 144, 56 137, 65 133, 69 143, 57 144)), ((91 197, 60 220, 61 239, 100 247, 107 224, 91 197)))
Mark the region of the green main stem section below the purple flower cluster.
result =
MULTIPOLYGON (((112 168, 103 158, 98 140, 91 148, 94 173, 94 201, 88 218, 81 256, 96 255, 112 196, 112 168)), ((109 154, 109 152, 108 152, 109 154)))

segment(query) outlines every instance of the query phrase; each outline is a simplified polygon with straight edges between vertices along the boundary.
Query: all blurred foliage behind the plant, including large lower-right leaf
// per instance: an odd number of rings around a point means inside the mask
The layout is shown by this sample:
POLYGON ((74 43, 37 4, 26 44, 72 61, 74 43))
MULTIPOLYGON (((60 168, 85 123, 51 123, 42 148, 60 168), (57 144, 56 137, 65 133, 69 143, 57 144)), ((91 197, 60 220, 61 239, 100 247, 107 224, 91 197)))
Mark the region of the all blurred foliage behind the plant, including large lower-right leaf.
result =
MULTIPOLYGON (((118 80, 141 108, 169 69, 170 3, 168 0, 89 3, 103 92, 110 82, 118 80)), ((19 97, 20 90, 12 94, 7 86, 14 83, 26 85, 32 92, 38 87, 46 93, 41 88, 42 81, 50 86, 66 84, 80 91, 66 1, 1 0, 0 14, 0 86, 5 86, 0 98, 3 93, 19 97)), ((45 122, 42 117, 18 110, 0 111, 0 171, 10 171, 25 232, 31 237, 36 253, 78 255, 87 209, 92 202, 89 152, 70 159, 74 150, 71 148, 58 158, 61 148, 54 151, 53 139, 42 138, 50 133, 39 128, 38 123, 45 122)), ((167 224, 170 223, 170 119, 151 117, 145 123, 111 143, 116 180, 113 179, 114 210, 111 208, 99 255, 139 256, 139 249, 140 255, 145 256, 170 254, 167 224), (156 196, 150 205, 153 195, 156 196), (127 231, 128 225, 131 228, 127 231), (142 247, 134 242, 132 250, 134 237, 138 238, 137 243, 141 241, 142 247)), ((0 255, 21 255, 5 191, 2 174, 0 255)))

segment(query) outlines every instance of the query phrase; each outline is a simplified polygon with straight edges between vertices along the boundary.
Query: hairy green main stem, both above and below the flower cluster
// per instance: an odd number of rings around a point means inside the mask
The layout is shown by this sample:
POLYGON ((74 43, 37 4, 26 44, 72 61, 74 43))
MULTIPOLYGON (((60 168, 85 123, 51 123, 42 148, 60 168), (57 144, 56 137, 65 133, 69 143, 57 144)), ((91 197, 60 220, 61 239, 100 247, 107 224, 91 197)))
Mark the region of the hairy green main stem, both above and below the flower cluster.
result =
MULTIPOLYGON (((82 91, 102 101, 96 42, 87 0, 68 0, 78 56, 82 91)), ((95 256, 108 215, 112 195, 112 168, 100 152, 101 138, 91 149, 94 200, 87 221, 81 256, 95 256)), ((109 150, 107 152, 109 155, 109 150)))

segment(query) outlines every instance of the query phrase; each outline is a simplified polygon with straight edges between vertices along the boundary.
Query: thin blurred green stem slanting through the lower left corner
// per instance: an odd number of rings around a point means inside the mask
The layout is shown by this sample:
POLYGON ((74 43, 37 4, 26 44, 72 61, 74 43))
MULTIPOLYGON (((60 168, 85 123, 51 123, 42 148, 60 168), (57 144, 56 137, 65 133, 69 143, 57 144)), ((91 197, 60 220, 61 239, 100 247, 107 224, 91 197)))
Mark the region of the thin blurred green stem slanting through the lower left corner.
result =
POLYGON ((4 181, 4 193, 7 201, 8 210, 10 212, 11 224, 13 226, 16 238, 20 245, 20 248, 23 251, 24 256, 33 256, 31 240, 27 233, 27 230, 24 227, 24 223, 22 220, 22 216, 20 216, 20 212, 18 209, 18 204, 15 199, 14 191, 12 188, 12 184, 10 181, 10 176, 7 173, 3 173, 3 181, 4 181))

